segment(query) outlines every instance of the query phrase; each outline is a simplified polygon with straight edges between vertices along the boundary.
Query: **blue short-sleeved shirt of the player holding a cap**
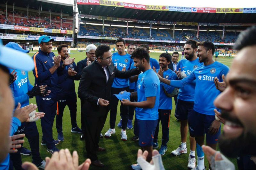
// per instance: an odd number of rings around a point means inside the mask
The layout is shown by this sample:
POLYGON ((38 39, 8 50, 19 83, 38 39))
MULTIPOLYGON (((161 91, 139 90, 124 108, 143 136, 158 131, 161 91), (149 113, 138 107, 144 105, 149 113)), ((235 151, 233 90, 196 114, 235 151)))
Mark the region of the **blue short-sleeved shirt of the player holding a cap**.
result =
POLYGON ((156 96, 155 106, 149 108, 135 108, 135 116, 140 120, 157 120, 160 98, 160 81, 153 69, 140 73, 137 81, 138 102, 147 100, 147 97, 156 96))

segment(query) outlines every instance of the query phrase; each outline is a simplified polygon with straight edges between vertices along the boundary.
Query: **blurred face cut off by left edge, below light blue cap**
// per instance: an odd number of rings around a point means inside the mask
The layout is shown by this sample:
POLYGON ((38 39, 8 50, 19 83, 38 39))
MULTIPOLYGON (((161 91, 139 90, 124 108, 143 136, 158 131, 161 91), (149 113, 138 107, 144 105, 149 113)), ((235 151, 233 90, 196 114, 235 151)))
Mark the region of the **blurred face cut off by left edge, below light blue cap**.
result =
POLYGON ((0 131, 1 145, 0 145, 0 162, 4 160, 7 156, 8 151, 11 148, 11 143, 9 139, 12 110, 14 108, 14 102, 12 99, 12 92, 9 88, 10 76, 7 72, 0 68, 0 126, 2 130, 0 131))

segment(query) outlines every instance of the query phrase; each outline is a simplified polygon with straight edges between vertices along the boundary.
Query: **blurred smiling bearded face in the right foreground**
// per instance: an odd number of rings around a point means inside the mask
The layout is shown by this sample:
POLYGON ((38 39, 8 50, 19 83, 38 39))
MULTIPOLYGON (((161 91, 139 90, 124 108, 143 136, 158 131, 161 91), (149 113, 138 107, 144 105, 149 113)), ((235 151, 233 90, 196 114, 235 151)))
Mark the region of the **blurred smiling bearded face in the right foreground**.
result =
POLYGON ((215 100, 225 118, 220 138, 221 152, 256 155, 256 46, 243 48, 233 60, 227 76, 227 89, 215 100))

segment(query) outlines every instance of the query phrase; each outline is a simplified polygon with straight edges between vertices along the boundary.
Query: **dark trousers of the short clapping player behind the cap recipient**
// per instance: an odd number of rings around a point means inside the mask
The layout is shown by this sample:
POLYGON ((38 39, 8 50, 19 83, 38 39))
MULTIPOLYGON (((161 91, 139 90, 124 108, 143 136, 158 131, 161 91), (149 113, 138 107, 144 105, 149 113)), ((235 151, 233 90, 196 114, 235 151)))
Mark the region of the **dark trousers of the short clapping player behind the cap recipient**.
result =
POLYGON ((169 123, 170 123, 170 116, 172 110, 163 110, 158 109, 158 123, 156 126, 155 136, 154 136, 154 143, 157 142, 158 139, 158 132, 159 132, 159 123, 161 121, 162 124, 162 145, 167 146, 167 142, 169 141, 169 123))

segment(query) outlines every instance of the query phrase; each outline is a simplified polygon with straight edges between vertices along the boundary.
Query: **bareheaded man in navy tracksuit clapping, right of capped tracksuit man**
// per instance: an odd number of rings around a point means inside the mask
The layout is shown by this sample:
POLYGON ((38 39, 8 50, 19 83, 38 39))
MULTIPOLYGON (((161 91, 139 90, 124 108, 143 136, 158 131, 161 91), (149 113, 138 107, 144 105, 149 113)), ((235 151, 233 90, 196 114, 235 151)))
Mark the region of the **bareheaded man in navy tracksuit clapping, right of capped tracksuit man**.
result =
MULTIPOLYGON (((68 45, 63 44, 57 47, 58 54, 61 57, 60 65, 69 56, 68 45)), ((58 132, 58 140, 64 141, 63 131, 62 131, 62 117, 63 112, 68 105, 71 118, 71 132, 72 133, 82 133, 82 130, 76 124, 76 90, 74 80, 80 80, 80 76, 75 72, 76 63, 67 65, 59 75, 58 84, 58 101, 57 101, 57 116, 56 116, 56 128, 58 132)))

